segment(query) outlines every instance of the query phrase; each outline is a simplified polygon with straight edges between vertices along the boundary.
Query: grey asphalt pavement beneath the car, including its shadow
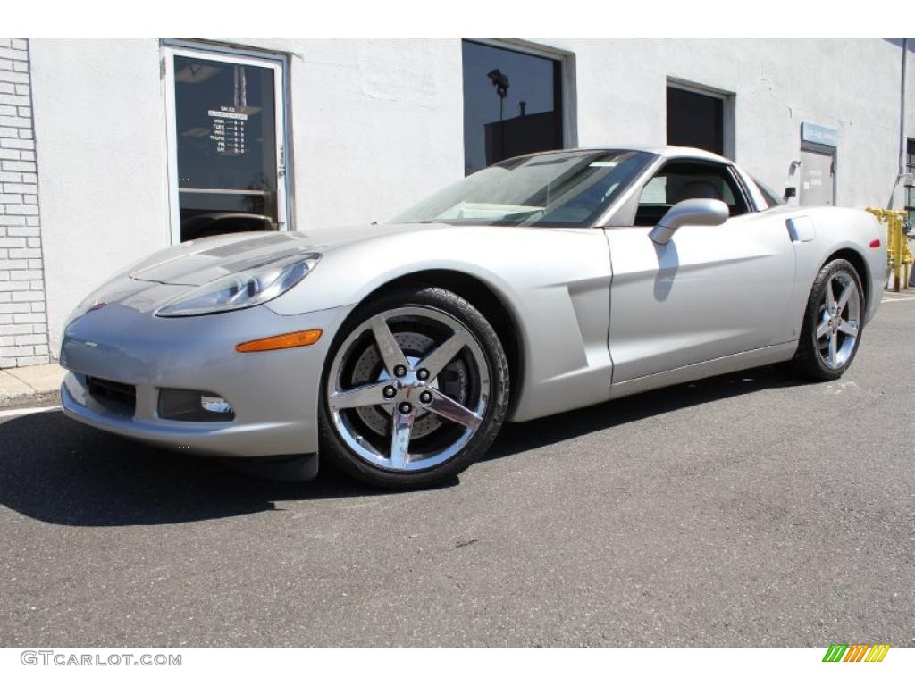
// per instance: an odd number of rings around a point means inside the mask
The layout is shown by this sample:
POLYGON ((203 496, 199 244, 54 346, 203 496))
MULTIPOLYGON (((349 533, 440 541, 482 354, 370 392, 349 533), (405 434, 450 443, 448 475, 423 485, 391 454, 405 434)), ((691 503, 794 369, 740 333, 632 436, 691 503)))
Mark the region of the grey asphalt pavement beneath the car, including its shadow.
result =
POLYGON ((0 646, 915 646, 913 332, 897 297, 841 381, 508 425, 411 493, 0 418, 0 646))

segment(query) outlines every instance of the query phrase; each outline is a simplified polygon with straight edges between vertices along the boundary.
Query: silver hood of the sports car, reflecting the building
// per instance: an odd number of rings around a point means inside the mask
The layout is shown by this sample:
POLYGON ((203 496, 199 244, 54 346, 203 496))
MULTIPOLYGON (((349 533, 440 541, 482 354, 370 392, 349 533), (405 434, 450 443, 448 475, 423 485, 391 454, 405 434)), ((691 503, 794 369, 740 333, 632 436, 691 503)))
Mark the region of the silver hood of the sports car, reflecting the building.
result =
POLYGON ((127 270, 135 281, 197 286, 229 273, 296 254, 326 252, 351 242, 436 228, 435 224, 386 224, 290 233, 253 231, 188 241, 156 252, 127 270))

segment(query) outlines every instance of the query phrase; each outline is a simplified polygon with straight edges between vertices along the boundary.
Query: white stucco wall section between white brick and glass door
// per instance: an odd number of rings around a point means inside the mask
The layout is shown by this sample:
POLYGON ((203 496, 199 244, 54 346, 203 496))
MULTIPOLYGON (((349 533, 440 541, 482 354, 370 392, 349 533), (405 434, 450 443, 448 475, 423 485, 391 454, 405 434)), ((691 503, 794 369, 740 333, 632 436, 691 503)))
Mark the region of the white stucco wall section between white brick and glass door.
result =
POLYGON ((70 310, 169 240, 155 40, 33 40, 51 351, 70 310))

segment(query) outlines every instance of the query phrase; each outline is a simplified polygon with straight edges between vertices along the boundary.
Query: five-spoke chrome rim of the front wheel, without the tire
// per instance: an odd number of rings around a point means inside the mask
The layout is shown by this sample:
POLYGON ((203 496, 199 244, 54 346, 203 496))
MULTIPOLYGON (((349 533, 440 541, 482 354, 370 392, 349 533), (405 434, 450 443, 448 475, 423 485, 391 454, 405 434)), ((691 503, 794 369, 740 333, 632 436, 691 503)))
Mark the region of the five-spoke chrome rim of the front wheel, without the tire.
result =
POLYGON ((490 372, 457 318, 398 307, 371 316, 339 346, 326 399, 335 432, 355 456, 392 471, 429 469, 477 433, 490 372))

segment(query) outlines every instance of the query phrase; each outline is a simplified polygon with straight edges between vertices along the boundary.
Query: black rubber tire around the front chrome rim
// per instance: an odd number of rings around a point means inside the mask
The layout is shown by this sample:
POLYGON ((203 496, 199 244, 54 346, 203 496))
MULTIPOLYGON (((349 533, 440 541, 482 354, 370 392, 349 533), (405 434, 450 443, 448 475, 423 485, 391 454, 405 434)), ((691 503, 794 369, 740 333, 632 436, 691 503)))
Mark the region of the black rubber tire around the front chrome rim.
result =
MULTIPOLYGON (((371 340, 373 341, 374 339, 371 340)), ((375 352, 381 353, 380 348, 377 348, 377 343, 370 342, 367 344, 367 346, 371 345, 376 346, 375 352)), ((445 370, 447 368, 442 370, 443 373, 445 370)), ((336 381, 335 379, 334 382, 336 381)), ((372 382, 378 382, 377 378, 372 382)), ((397 291, 381 295, 358 306, 350 314, 347 321, 340 327, 338 335, 334 338, 328 350, 327 364, 325 365, 321 382, 318 413, 322 462, 326 459, 330 465, 335 466, 350 477, 359 479, 371 486, 382 488, 423 488, 454 477, 483 456, 492 445, 508 410, 509 387, 509 366, 499 337, 486 318, 467 300, 443 288, 421 285, 405 286, 397 291), (468 443, 463 445, 455 455, 447 458, 446 461, 427 469, 416 469, 414 471, 384 468, 383 466, 372 464, 367 459, 359 456, 339 433, 338 427, 332 421, 331 412, 328 408, 328 396, 331 388, 328 386, 328 379, 331 367, 336 364, 335 359, 340 359, 340 356, 344 356, 345 359, 345 356, 349 354, 348 351, 341 351, 341 347, 347 343, 351 335, 354 335, 354 332, 361 329, 361 327, 365 327, 372 317, 404 307, 423 308, 427 312, 444 313, 446 316, 457 320, 475 340, 477 347, 474 349, 478 350, 478 357, 479 352, 482 353, 481 357, 485 359, 486 373, 488 374, 488 402, 486 403, 485 411, 480 415, 482 419, 476 428, 476 433, 472 434, 468 443)), ((379 407, 378 405, 372 405, 371 409, 376 410, 379 407)), ((391 412, 397 413, 398 407, 395 405, 391 412)), ((416 407, 420 406, 416 405, 416 407)), ((417 414, 416 416, 419 415, 417 414)), ((436 416, 437 419, 439 418, 436 416)), ((441 427, 434 429, 433 434, 440 429, 441 427)), ((393 430, 390 427, 389 431, 393 434, 393 430)), ((390 441, 391 434, 389 434, 388 441, 390 441)), ((382 440, 382 438, 379 438, 379 442, 382 442, 382 440)), ((393 448, 391 452, 393 454, 393 448)), ((444 455, 445 451, 442 454, 444 455)))

